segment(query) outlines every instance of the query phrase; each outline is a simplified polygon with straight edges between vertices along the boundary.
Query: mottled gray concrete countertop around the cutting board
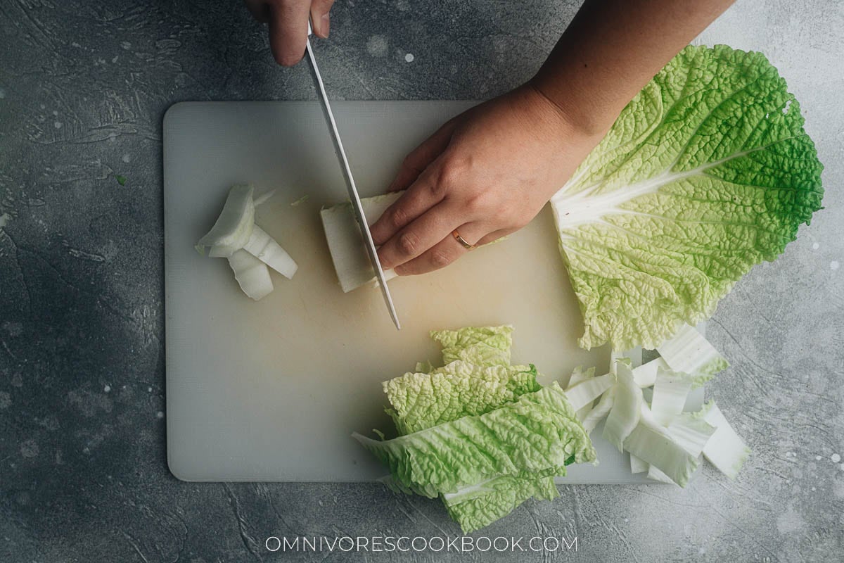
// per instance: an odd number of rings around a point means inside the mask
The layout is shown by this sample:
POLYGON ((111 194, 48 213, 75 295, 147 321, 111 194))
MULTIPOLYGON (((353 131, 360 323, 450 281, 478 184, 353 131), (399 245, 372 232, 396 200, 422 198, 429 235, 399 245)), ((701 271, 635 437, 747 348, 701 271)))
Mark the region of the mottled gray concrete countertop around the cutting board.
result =
MULTIPOLYGON (((338 0, 317 49, 337 97, 490 97, 532 75, 576 4, 338 0)), ((562 487, 484 535, 576 536, 571 561, 841 560, 842 30, 839 2, 744 0, 701 36, 766 53, 826 165, 825 210, 709 326, 732 367, 707 392, 754 450, 738 480, 707 467, 686 490, 562 487)), ((235 0, 0 4, 0 560, 392 560, 411 555, 263 542, 458 533, 440 503, 380 485, 167 470, 161 117, 181 100, 312 98, 306 67, 278 68, 265 35, 235 0)))

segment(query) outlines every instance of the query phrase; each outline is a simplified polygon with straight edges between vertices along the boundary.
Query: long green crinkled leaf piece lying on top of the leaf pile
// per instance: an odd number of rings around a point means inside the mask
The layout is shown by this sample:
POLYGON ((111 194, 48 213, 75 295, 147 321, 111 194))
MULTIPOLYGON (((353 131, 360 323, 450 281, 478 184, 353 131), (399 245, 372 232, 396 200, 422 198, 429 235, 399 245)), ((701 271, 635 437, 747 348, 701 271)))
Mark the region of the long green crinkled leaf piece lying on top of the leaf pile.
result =
POLYGON ((514 403, 392 440, 354 437, 390 468, 403 490, 434 497, 500 475, 594 461, 586 431, 553 383, 514 403))

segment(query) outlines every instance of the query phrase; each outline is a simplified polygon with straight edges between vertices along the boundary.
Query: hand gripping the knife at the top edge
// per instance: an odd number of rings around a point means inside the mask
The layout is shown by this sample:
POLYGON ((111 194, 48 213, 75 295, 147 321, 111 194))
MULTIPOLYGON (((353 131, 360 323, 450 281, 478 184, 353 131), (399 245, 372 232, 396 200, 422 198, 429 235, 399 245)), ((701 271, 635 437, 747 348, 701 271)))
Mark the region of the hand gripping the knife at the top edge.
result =
POLYGON ((252 16, 269 24, 269 44, 276 62, 292 67, 305 55, 308 16, 317 37, 325 39, 334 0, 244 0, 252 16))

